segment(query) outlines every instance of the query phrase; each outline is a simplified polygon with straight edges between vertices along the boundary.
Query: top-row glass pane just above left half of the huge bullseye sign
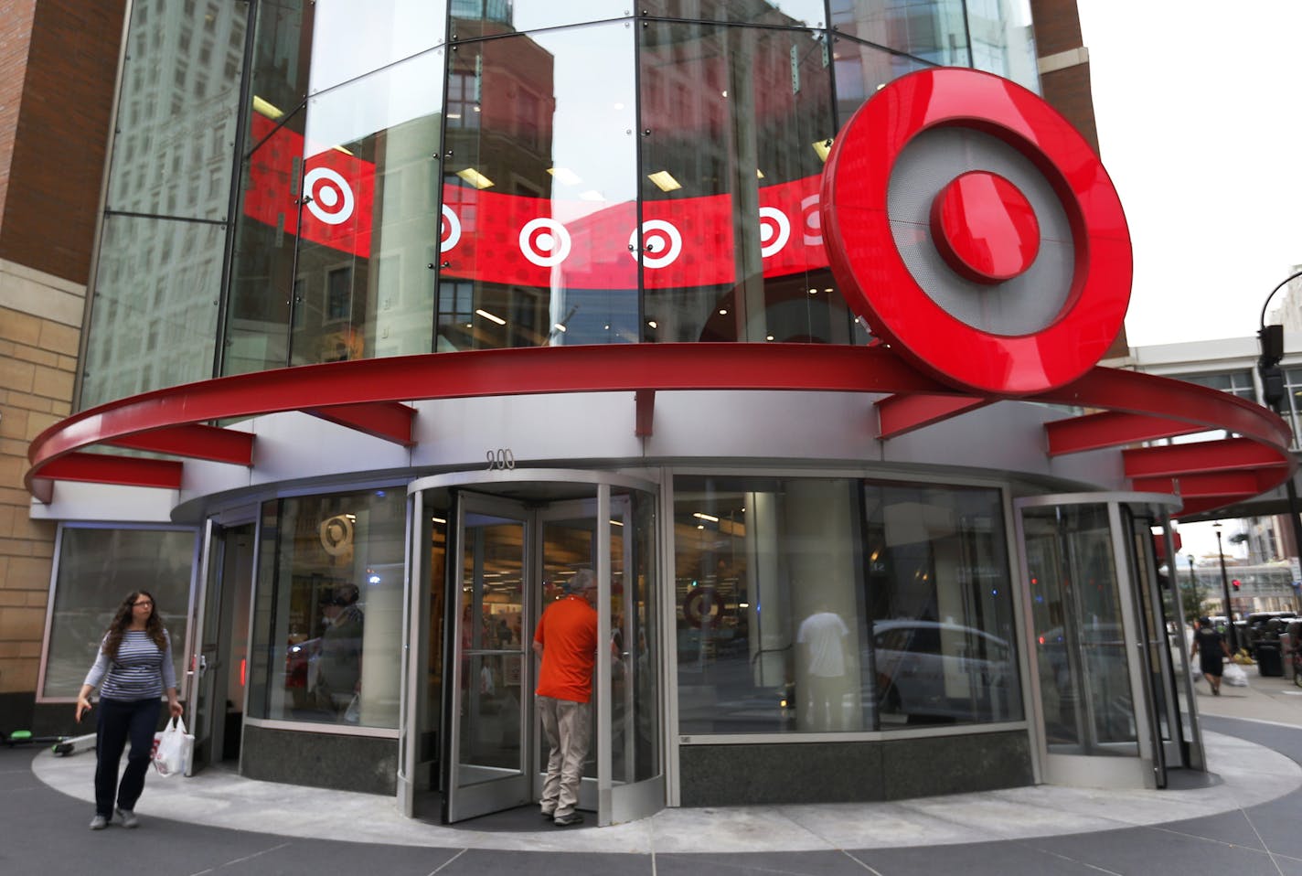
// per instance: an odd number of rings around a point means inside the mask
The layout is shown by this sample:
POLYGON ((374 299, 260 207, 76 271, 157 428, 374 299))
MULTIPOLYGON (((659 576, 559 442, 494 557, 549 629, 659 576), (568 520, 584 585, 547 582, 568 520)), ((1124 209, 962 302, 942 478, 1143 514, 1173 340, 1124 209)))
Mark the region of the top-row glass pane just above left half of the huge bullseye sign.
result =
POLYGON ((832 0, 832 26, 932 64, 971 66, 963 0, 832 0))

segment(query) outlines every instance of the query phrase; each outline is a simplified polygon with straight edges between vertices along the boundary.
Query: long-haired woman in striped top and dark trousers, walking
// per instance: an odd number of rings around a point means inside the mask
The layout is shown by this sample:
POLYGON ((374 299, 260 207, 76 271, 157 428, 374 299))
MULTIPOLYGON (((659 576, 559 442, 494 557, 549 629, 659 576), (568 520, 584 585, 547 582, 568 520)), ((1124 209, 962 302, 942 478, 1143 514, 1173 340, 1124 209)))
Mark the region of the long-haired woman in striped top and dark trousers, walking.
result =
POLYGON ((176 669, 172 668, 172 640, 154 607, 154 596, 137 590, 117 608, 95 665, 90 668, 77 695, 77 721, 90 711, 90 694, 99 686, 99 720, 95 724, 95 817, 91 830, 103 830, 113 820, 115 791, 117 817, 124 828, 139 827, 135 801, 145 790, 145 773, 154 750, 159 722, 159 698, 165 692, 172 717, 181 716, 176 696, 176 669), (128 741, 122 781, 117 768, 128 741))

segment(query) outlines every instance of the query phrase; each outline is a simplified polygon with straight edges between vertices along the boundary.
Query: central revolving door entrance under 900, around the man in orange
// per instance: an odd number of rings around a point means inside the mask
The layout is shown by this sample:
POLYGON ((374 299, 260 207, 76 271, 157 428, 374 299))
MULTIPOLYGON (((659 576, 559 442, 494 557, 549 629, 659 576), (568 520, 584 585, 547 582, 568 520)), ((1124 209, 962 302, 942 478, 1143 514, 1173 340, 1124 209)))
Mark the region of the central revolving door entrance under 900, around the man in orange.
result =
POLYGON ((534 708, 534 627, 579 569, 598 577, 607 643, 579 808, 609 824, 664 806, 655 495, 586 472, 549 475, 409 489, 421 521, 413 616, 430 618, 413 625, 428 635, 410 648, 401 745, 400 804, 413 815, 437 810, 456 823, 538 799, 548 752, 534 708))

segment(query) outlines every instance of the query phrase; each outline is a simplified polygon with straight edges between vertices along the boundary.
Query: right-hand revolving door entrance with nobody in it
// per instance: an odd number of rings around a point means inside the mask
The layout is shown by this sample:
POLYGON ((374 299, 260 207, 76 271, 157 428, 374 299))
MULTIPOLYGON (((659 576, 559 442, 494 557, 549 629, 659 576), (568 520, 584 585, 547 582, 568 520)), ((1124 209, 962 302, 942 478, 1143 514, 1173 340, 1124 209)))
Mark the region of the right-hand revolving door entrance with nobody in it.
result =
MULTIPOLYGON (((1163 499, 1018 500, 1044 781, 1164 787, 1190 765, 1152 528, 1163 499)), ((1169 500, 1167 500, 1169 501, 1169 500)))

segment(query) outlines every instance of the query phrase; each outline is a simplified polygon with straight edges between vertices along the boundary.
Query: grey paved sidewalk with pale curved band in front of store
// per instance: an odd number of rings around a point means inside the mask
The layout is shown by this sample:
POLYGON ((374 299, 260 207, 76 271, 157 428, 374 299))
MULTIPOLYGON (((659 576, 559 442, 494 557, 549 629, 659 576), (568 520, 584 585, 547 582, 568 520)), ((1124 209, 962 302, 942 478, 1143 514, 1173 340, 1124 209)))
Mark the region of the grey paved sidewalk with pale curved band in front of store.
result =
POLYGON ((0 748, 0 873, 1302 876, 1302 689, 1247 669, 1246 689, 1200 685, 1204 786, 665 810, 611 828, 557 830, 531 807, 443 827, 384 797, 207 771, 150 776, 139 830, 90 832, 94 755, 0 748))

